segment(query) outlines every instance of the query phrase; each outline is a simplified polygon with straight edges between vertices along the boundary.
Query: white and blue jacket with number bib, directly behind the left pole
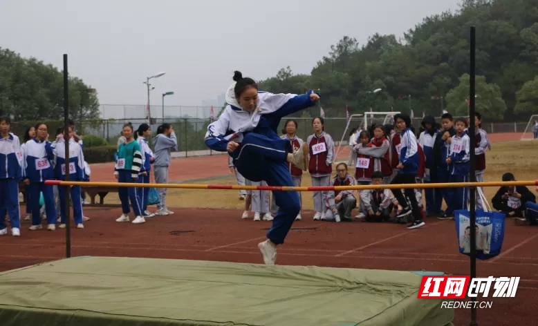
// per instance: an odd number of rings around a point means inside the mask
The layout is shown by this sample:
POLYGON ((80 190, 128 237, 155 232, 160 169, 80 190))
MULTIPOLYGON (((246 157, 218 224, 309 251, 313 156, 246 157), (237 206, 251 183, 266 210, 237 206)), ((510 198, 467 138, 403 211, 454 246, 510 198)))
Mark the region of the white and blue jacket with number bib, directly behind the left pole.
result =
POLYGON ((66 162, 66 143, 65 140, 55 142, 56 165, 54 168, 57 180, 66 179, 66 171, 69 171, 69 180, 83 181, 84 172, 84 154, 82 146, 75 142, 73 138, 69 140, 69 161, 66 162))

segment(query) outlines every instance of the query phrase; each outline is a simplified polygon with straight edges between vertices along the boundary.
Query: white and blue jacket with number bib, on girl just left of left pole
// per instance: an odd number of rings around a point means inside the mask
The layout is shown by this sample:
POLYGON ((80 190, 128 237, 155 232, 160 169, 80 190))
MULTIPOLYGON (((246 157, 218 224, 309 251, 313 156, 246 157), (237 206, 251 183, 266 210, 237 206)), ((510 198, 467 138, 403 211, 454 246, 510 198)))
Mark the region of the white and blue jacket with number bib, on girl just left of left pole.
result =
POLYGON ((54 180, 55 148, 47 140, 28 140, 24 145, 24 178, 30 182, 54 180))

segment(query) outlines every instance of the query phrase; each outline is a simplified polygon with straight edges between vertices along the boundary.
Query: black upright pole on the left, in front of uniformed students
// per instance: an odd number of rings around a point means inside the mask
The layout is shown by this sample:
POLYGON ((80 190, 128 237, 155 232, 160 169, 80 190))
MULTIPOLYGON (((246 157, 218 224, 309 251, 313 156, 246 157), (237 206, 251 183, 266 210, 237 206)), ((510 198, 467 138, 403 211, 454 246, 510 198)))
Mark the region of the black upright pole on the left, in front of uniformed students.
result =
MULTIPOLYGON (((67 72, 67 55, 64 55, 64 142, 66 161, 64 166, 60 169, 64 169, 66 181, 69 181, 69 75, 67 72)), ((66 186, 66 258, 71 257, 71 186, 66 186)))

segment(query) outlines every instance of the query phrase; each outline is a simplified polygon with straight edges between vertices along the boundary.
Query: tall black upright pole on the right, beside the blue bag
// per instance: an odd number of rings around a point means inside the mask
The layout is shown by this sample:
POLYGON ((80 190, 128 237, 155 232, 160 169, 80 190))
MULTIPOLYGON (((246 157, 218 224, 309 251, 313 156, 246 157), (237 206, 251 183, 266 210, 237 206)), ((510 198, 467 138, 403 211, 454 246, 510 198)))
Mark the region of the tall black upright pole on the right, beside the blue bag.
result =
MULTIPOLYGON (((469 140, 470 140, 470 181, 476 182, 476 175, 475 175, 475 167, 474 167, 474 161, 475 156, 474 155, 474 146, 475 146, 475 125, 474 125, 474 113, 475 113, 475 106, 474 106, 474 97, 475 97, 475 88, 474 88, 474 82, 476 79, 476 67, 475 67, 475 48, 476 48, 476 26, 471 26, 471 39, 470 39, 470 45, 471 45, 471 57, 470 57, 470 79, 469 79, 469 140)), ((470 227, 471 227, 471 280, 473 278, 476 278, 476 233, 474 232, 474 228, 476 225, 476 187, 471 187, 469 189, 469 215, 470 215, 470 227)), ((471 299, 472 300, 472 299, 471 299)), ((474 301, 474 300, 472 300, 474 301)), ((477 326, 479 325, 476 322, 476 307, 474 307, 474 303, 471 306, 471 323, 470 326, 477 326)))

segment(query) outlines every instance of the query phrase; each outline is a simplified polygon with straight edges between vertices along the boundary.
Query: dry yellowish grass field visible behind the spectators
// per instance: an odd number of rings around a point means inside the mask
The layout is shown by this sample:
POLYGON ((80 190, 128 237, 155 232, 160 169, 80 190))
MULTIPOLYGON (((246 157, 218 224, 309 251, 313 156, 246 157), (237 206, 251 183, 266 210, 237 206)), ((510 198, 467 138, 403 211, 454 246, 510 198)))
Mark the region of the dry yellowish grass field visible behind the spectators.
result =
MULTIPOLYGON (((538 178, 538 142, 513 141, 499 142, 493 144, 490 151, 486 153, 485 181, 500 181, 503 173, 514 173, 517 180, 535 180, 538 178)), ((353 169, 349 169, 353 175, 353 169)), ((234 175, 221 175, 217 178, 187 182, 190 184, 236 184, 234 175)), ((304 173, 302 186, 310 186, 310 175, 304 173)), ((531 189, 534 191, 534 189, 531 189)), ((484 189, 486 198, 491 199, 496 188, 488 187, 484 189)), ((313 208, 312 194, 309 192, 302 194, 303 209, 313 208)), ((115 196, 111 196, 110 202, 119 203, 115 196)), ((239 200, 239 192, 236 190, 199 190, 199 189, 169 189, 167 196, 169 207, 198 207, 198 208, 225 208, 242 209, 244 202, 239 200)))

